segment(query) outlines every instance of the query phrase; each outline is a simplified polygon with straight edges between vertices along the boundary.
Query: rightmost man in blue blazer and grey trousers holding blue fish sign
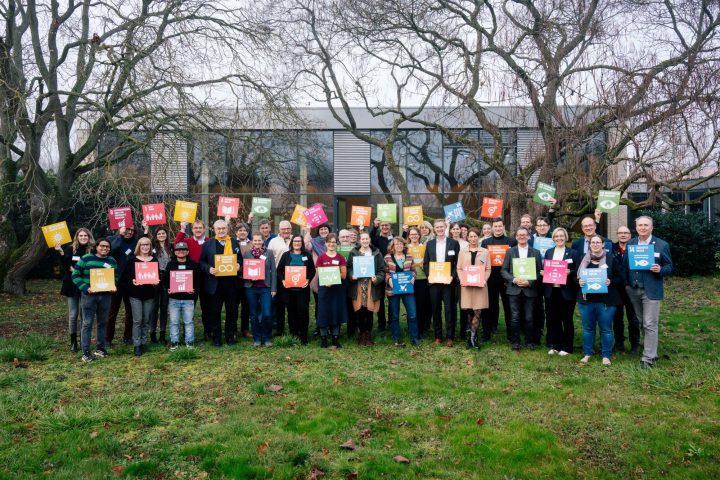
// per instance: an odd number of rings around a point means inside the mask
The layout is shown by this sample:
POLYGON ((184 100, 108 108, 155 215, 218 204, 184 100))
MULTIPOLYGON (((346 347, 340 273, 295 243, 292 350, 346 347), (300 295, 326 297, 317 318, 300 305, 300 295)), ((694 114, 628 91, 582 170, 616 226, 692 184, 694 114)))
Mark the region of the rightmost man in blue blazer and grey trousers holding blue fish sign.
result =
POLYGON ((670 245, 665 240, 653 236, 653 220, 643 215, 635 219, 636 238, 628 242, 632 245, 653 245, 655 262, 650 270, 632 270, 629 255, 625 256, 625 287, 633 309, 642 322, 645 339, 640 368, 651 368, 657 359, 658 324, 660 323, 660 302, 664 296, 663 279, 672 273, 670 245))

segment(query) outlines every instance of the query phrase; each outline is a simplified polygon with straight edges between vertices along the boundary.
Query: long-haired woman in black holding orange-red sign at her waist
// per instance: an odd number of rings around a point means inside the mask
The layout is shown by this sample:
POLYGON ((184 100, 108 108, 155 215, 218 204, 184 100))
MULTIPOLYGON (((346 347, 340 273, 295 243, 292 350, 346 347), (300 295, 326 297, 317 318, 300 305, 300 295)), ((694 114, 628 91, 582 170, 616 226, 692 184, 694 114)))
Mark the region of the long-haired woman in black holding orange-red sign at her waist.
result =
POLYGON ((310 281, 315 277, 312 255, 305 250, 301 235, 290 239, 290 250, 283 253, 277 265, 277 281, 283 286, 278 295, 287 306, 288 328, 300 343, 308 343, 310 323, 310 281))

